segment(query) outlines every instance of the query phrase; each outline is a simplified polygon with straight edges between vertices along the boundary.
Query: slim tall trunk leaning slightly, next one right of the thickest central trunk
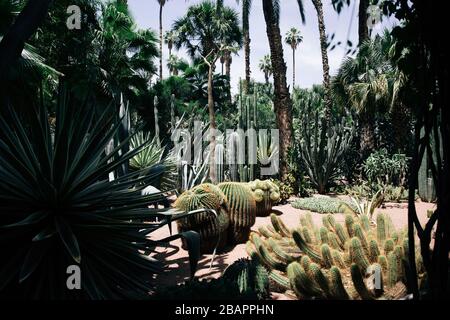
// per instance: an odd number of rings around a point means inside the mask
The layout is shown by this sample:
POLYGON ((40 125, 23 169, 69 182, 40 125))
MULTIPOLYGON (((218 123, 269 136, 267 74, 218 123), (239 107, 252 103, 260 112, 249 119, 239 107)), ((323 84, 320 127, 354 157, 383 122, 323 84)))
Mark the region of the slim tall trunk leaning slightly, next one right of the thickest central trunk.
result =
POLYGON ((317 20, 320 34, 320 48, 322 51, 323 87, 325 89, 325 114, 327 122, 330 123, 331 109, 333 107, 333 102, 331 100, 330 65, 328 63, 327 36, 325 30, 325 21, 323 17, 323 6, 322 0, 312 0, 312 1, 317 11, 317 20))

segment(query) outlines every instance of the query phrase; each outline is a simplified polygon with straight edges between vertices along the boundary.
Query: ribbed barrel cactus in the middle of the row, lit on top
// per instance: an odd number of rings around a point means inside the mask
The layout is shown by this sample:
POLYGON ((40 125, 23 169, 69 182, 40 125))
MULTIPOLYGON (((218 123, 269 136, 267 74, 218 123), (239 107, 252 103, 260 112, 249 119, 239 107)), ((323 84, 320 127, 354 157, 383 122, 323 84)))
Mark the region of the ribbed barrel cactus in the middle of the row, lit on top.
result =
POLYGON ((228 242, 245 243, 256 219, 256 202, 252 191, 246 183, 238 182, 225 182, 218 187, 225 194, 229 207, 228 242))

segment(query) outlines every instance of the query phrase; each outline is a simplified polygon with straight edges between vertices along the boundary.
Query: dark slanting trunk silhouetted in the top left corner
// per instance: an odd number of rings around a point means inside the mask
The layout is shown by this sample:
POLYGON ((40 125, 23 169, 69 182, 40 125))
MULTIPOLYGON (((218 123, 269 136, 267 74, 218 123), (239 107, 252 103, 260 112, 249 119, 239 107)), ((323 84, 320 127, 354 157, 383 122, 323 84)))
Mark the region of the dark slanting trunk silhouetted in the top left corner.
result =
POLYGON ((52 0, 29 0, 0 42, 0 77, 22 53, 25 42, 47 16, 52 0))

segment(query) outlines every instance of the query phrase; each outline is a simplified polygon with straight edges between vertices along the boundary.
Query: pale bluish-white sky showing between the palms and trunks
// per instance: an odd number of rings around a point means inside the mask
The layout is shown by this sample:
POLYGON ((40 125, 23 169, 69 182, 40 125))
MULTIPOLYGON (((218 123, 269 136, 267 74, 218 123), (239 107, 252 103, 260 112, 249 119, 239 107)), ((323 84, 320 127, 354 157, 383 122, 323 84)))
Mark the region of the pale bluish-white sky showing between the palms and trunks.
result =
MULTIPOLYGON (((173 22, 182 17, 187 8, 201 0, 168 0, 164 6, 163 27, 167 31, 172 27, 173 22)), ((280 0, 281 16, 280 29, 283 36, 291 27, 299 29, 303 35, 301 43, 296 51, 296 86, 310 88, 314 84, 322 83, 322 58, 319 42, 319 30, 317 26, 316 11, 311 1, 304 1, 306 11, 306 24, 302 24, 298 10, 297 0, 280 0)), ((225 0, 225 5, 235 8, 239 13, 240 9, 236 0, 225 0)), ((335 33, 335 40, 342 41, 343 45, 329 51, 329 63, 331 75, 335 74, 345 58, 347 39, 354 44, 358 42, 358 3, 359 0, 352 0, 349 7, 338 15, 332 5, 331 0, 323 0, 325 25, 327 33, 335 33)), ((131 13, 139 28, 151 28, 159 32, 159 4, 157 0, 128 0, 131 13)), ((394 22, 387 20, 378 25, 374 32, 380 32, 383 28, 392 28, 394 22)), ((250 37, 251 42, 251 70, 252 78, 259 82, 264 82, 264 74, 259 70, 258 65, 261 58, 270 52, 266 34, 262 1, 253 0, 253 7, 250 16, 250 37)), ((292 84, 292 49, 283 42, 284 59, 287 65, 287 81, 292 84)), ((180 57, 188 57, 184 50, 175 52, 180 57)), ((164 45, 164 59, 168 58, 168 49, 164 45)), ((159 62, 157 62, 159 63, 159 62)), ((220 70, 218 68, 217 70, 220 70)), ((168 70, 164 65, 164 73, 167 76, 168 70)), ((241 50, 238 56, 233 57, 231 66, 231 85, 233 92, 236 92, 239 79, 245 78, 244 51, 241 50)))

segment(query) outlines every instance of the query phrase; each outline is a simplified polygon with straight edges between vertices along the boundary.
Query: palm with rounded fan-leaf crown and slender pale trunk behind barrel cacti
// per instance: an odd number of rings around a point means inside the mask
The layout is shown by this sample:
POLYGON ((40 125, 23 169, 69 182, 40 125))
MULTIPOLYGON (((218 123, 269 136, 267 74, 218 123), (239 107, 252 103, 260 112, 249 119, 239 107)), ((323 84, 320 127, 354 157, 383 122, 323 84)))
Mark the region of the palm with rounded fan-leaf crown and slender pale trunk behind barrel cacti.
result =
MULTIPOLYGON (((235 51, 242 46, 242 33, 237 13, 221 1, 213 4, 206 0, 189 7, 185 16, 176 20, 172 28, 177 32, 174 45, 185 47, 195 61, 198 59, 208 66, 208 112, 210 130, 217 129, 213 95, 213 75, 215 63, 226 51, 235 51)), ((215 150, 216 138, 210 134, 210 150, 215 150)), ((210 179, 216 182, 215 152, 210 153, 210 179)))

